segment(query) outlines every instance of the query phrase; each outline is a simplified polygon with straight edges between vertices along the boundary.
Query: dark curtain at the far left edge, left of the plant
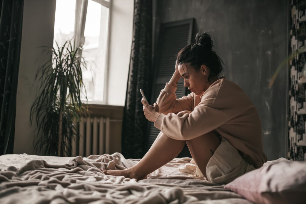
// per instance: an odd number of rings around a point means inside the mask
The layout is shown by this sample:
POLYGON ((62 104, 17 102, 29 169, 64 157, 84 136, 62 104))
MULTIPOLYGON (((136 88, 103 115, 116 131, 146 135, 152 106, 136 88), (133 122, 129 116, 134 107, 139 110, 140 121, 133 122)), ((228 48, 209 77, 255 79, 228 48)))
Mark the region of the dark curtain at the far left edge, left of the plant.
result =
POLYGON ((13 154, 23 0, 0 0, 0 154, 13 154))

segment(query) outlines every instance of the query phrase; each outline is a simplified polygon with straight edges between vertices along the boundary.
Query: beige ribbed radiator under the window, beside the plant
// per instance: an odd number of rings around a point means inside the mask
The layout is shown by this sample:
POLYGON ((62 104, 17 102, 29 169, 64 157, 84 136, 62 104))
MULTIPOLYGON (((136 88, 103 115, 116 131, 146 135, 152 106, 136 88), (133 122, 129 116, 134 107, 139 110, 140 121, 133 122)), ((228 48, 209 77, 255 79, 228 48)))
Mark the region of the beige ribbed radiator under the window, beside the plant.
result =
POLYGON ((71 140, 71 156, 110 154, 110 122, 109 117, 81 117, 78 125, 80 138, 71 140))

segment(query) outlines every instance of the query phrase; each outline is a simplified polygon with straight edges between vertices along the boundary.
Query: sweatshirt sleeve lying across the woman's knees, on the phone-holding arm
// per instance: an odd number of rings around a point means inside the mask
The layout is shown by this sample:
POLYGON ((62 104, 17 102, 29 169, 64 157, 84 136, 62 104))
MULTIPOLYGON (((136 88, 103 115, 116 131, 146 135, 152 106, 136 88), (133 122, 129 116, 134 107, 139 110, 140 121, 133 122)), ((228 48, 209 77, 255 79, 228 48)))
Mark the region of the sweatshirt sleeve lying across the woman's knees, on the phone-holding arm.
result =
POLYGON ((181 111, 177 114, 159 114, 154 126, 177 140, 190 140, 218 128, 229 120, 224 110, 216 109, 212 104, 200 103, 193 111, 181 111))

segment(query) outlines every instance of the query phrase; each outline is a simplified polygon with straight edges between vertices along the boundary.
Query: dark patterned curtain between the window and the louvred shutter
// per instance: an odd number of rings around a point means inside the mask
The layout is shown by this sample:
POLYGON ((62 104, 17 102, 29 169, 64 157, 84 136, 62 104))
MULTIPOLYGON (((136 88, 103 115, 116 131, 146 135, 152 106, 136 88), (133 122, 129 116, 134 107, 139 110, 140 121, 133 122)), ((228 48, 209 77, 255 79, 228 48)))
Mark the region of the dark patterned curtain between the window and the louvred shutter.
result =
MULTIPOLYGON (((141 94, 151 96, 152 1, 134 1, 134 25, 129 76, 122 124, 122 154, 125 158, 144 156, 147 119, 141 94)), ((152 104, 151 104, 152 105, 152 104)))

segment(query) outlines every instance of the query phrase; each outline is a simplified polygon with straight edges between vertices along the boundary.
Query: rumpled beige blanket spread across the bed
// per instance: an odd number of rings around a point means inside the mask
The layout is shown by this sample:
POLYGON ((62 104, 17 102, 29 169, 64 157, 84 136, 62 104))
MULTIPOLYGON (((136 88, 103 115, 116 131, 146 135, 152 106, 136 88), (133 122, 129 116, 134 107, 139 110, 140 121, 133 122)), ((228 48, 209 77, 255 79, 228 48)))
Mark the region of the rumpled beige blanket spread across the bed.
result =
POLYGON ((105 175, 140 159, 122 154, 88 158, 0 156, 0 203, 250 203, 223 186, 180 172, 191 158, 175 158, 147 179, 105 175))

